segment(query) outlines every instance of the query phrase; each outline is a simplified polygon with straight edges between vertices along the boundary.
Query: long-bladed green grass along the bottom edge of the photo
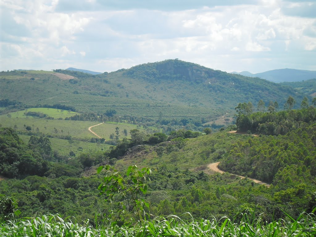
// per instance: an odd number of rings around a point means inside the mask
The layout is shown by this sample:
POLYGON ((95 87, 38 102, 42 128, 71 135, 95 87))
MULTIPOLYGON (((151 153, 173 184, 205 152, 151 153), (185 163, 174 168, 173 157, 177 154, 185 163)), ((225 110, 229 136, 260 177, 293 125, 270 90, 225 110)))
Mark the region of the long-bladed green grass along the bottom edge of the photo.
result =
POLYGON ((0 224, 0 236, 316 236, 314 214, 301 214, 296 220, 286 219, 266 223, 259 219, 250 222, 246 215, 239 224, 227 217, 201 221, 182 221, 178 216, 159 217, 132 227, 97 227, 63 220, 58 215, 44 215, 33 219, 7 221, 0 224))

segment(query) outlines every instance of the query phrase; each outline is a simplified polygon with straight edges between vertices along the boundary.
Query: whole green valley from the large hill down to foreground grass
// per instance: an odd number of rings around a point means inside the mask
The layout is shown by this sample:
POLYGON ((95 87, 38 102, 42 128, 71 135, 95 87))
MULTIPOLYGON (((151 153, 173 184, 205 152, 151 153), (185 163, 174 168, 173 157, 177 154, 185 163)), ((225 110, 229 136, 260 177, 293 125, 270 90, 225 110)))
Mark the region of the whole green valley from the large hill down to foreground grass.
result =
POLYGON ((177 59, 1 72, 0 233, 314 236, 312 82, 177 59))

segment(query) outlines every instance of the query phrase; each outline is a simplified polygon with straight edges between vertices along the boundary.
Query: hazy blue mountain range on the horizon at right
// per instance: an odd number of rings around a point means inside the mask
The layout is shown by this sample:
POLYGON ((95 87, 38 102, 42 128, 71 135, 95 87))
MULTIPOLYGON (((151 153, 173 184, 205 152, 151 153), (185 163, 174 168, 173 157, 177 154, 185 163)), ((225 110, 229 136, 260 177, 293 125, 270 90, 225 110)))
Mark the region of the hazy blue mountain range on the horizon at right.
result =
POLYGON ((297 69, 276 69, 266 72, 252 74, 248 71, 231 72, 232 74, 240 74, 242 76, 259 77, 270 82, 301 82, 316 78, 316 71, 297 70, 297 69))

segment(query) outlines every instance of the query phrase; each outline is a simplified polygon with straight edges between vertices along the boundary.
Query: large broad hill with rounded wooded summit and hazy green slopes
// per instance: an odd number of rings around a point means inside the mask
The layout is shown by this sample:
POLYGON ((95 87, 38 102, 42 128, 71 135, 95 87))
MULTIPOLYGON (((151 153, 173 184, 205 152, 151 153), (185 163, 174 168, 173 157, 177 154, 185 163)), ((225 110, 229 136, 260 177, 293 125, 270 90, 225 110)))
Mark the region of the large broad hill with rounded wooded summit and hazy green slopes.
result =
POLYGON ((272 100, 281 108, 290 95, 296 106, 305 96, 264 79, 171 59, 98 75, 61 69, 1 72, 0 95, 11 106, 61 104, 97 113, 115 109, 129 119, 192 119, 197 124, 232 117, 240 102, 257 107, 259 100, 266 105, 272 100))

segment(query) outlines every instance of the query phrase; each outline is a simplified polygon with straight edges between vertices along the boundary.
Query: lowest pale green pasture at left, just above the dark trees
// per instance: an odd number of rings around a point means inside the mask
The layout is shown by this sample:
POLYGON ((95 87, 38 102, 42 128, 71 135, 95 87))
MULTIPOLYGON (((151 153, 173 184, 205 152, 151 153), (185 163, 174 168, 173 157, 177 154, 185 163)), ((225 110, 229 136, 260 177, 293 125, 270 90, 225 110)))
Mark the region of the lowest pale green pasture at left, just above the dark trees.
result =
MULTIPOLYGON (((19 137, 23 140, 24 143, 28 143, 30 140, 30 136, 27 135, 19 135, 19 137)), ((73 144, 69 144, 68 140, 59 139, 59 138, 49 138, 52 145, 53 151, 58 151, 60 155, 69 155, 70 151, 75 152, 76 155, 82 153, 93 153, 97 151, 105 151, 111 147, 111 145, 101 144, 101 143, 89 143, 82 141, 74 141, 73 144), (78 149, 82 147, 81 149, 78 149)))

